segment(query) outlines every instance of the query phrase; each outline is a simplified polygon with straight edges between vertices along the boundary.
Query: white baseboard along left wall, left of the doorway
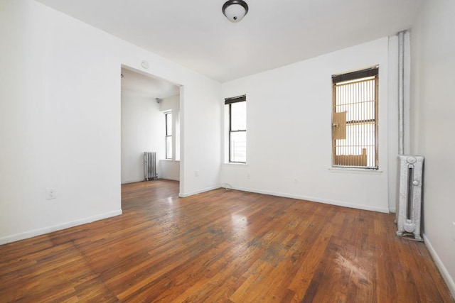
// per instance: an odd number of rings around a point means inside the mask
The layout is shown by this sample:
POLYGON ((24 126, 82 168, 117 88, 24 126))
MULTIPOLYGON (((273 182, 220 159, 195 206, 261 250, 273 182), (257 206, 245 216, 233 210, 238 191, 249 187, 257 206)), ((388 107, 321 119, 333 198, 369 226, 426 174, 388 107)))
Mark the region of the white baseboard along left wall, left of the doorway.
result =
POLYGON ((20 240, 23 240, 23 239, 26 239, 26 238, 33 238, 35 236, 41 236, 41 235, 44 235, 45 233, 52 233, 53 231, 60 231, 62 229, 70 228, 70 227, 73 227, 73 226, 78 226, 78 225, 82 225, 82 224, 92 223, 92 222, 95 222, 95 221, 100 221, 102 219, 107 219, 107 218, 110 218, 112 216, 119 216, 121 214, 122 214, 122 209, 119 209, 117 211, 109 211, 109 212, 107 212, 105 214, 99 214, 97 216, 89 216, 89 217, 84 218, 84 219, 71 221, 71 222, 67 222, 67 223, 64 223, 64 224, 48 226, 48 227, 45 227, 45 228, 38 228, 38 229, 35 229, 34 231, 26 231, 26 232, 23 232, 23 233, 16 233, 15 235, 12 235, 12 236, 6 236, 6 237, 3 237, 3 238, 0 238, 0 245, 4 245, 6 243, 20 241, 20 240))

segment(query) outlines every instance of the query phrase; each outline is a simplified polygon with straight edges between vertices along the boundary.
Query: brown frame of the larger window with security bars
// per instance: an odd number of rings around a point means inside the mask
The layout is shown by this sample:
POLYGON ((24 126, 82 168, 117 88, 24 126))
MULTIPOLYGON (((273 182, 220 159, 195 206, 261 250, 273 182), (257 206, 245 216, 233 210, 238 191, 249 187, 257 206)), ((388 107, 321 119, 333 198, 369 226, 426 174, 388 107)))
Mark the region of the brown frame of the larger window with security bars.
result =
MULTIPOLYGON (((356 70, 353 72, 346 72, 342 74, 337 74, 337 75, 332 75, 332 163, 331 167, 333 168, 340 168, 340 169, 359 169, 359 170, 379 170, 379 65, 375 65, 372 67, 368 67, 362 70, 356 70), (368 162, 366 163, 365 166, 363 165, 358 165, 358 163, 355 163, 356 161, 354 160, 351 164, 337 164, 342 161, 337 161, 336 160, 336 148, 337 145, 336 141, 336 114, 340 114, 341 112, 336 111, 337 106, 341 106, 341 104, 337 104, 336 101, 336 88, 337 84, 338 85, 346 85, 346 84, 356 84, 360 82, 365 82, 368 81, 368 78, 374 80, 374 118, 373 119, 363 119, 363 120, 351 120, 351 121, 344 121, 344 127, 345 127, 345 132, 346 128, 348 126, 353 126, 353 125, 360 125, 362 123, 365 124, 373 124, 374 125, 374 159, 373 159, 373 166, 368 165, 368 162), (348 82, 348 83, 346 83, 348 82)), ((358 101, 359 99, 356 99, 355 102, 352 102, 353 104, 360 104, 361 102, 358 101)), ((361 130, 358 130, 358 133, 360 133, 361 130)), ((358 133, 356 133, 356 138, 358 138, 358 133)), ((367 144, 364 145, 359 145, 360 148, 368 148, 367 144)), ((370 145, 373 147, 373 145, 370 145)), ((340 155, 345 155, 345 154, 340 154, 340 155)), ((365 154, 366 155, 366 154, 365 154)), ((339 155, 338 155, 339 156, 339 155)), ((346 156, 351 156, 351 155, 346 155, 346 156)), ((356 156, 356 155, 353 155, 356 156)), ((360 155, 359 155, 360 156, 360 155)), ((368 159, 368 158, 367 158, 368 159)), ((368 160, 367 160, 368 161, 368 160)))

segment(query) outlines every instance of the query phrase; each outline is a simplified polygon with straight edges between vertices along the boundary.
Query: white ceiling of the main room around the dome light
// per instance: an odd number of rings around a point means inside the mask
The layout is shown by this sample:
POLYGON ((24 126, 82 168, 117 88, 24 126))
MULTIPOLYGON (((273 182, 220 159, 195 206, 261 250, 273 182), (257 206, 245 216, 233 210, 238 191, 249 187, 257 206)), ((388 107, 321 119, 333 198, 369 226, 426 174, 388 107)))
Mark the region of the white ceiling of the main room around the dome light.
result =
POLYGON ((225 82, 410 28, 423 0, 38 0, 225 82))

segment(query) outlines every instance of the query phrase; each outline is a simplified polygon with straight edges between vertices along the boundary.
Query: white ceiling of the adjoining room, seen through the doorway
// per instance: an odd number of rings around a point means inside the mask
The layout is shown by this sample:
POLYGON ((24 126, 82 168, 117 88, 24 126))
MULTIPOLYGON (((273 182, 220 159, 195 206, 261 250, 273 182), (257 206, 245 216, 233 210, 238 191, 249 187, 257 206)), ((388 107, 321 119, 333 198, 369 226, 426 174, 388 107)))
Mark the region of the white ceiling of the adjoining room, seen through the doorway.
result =
POLYGON ((159 99, 180 94, 180 88, 166 80, 142 75, 124 67, 122 67, 122 75, 122 90, 159 99))

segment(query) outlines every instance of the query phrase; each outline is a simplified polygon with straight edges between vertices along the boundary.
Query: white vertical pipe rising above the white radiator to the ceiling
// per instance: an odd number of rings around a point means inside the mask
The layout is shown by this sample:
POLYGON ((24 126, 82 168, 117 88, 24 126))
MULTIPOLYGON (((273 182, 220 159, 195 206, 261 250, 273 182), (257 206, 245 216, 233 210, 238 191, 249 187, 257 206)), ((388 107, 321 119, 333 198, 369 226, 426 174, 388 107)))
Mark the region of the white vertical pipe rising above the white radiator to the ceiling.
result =
POLYGON ((405 33, 398 33, 398 154, 405 154, 405 33))

